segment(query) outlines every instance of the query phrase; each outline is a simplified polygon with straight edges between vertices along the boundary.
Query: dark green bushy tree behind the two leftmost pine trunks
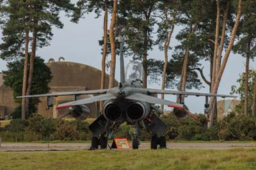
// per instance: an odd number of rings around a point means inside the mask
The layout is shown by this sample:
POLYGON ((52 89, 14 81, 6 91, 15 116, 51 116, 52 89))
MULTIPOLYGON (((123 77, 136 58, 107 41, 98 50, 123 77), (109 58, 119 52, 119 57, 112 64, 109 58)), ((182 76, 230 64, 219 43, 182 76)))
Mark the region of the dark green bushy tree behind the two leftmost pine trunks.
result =
MULTIPOLYGON (((7 71, 3 72, 4 84, 13 89, 13 98, 15 102, 20 105, 15 109, 12 116, 13 118, 20 118, 21 116, 21 99, 17 99, 17 96, 22 95, 22 81, 24 73, 24 58, 20 60, 15 60, 7 64, 7 71)), ((50 88, 48 87, 49 82, 51 82, 51 70, 48 66, 45 65, 44 59, 40 57, 35 58, 35 70, 34 76, 31 84, 31 95, 44 94, 49 92, 50 88)), ((30 116, 32 113, 36 112, 36 104, 40 100, 38 98, 33 98, 29 100, 29 112, 26 114, 26 117, 30 116)))

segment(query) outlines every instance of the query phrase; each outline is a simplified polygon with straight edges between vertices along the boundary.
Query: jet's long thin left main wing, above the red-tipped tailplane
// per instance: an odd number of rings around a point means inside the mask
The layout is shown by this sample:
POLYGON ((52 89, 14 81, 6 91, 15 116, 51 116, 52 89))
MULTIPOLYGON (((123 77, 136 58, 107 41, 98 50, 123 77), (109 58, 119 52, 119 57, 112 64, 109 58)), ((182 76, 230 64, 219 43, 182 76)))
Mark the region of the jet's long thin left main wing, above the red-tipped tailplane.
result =
POLYGON ((72 92, 63 92, 63 93, 48 93, 43 95, 29 95, 21 96, 17 98, 32 98, 32 97, 58 97, 58 96, 71 96, 71 95, 94 95, 106 93, 108 89, 95 89, 95 90, 86 90, 86 91, 72 91, 72 92))

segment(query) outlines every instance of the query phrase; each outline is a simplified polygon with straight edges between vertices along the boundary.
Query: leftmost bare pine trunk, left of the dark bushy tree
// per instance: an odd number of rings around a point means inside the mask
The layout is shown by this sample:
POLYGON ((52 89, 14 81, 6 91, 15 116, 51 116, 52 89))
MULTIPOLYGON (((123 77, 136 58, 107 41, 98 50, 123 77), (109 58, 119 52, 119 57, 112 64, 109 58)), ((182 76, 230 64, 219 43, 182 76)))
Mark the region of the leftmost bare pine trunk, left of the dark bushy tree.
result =
MULTIPOLYGON (((24 60, 24 71, 23 71, 23 84, 22 84, 22 96, 26 96, 27 90, 27 79, 28 79, 28 44, 29 44, 29 31, 26 31, 25 40, 25 60, 24 60)), ((22 98, 21 102, 21 119, 26 119, 26 98, 22 98)))

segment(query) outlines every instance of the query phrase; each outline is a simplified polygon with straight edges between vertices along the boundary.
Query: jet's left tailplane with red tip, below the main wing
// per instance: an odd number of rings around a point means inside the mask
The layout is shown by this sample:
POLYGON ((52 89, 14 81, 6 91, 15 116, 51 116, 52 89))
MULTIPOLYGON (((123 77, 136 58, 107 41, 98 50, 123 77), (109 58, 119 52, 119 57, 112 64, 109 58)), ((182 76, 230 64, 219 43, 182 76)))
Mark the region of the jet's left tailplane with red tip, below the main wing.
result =
POLYGON ((116 97, 114 95, 112 95, 111 93, 106 93, 104 95, 99 95, 96 97, 88 97, 88 98, 83 98, 81 100, 76 100, 73 102, 67 102, 64 104, 60 104, 60 105, 58 105, 58 107, 56 107, 56 109, 73 107, 75 105, 91 104, 93 102, 99 102, 99 101, 103 101, 103 100, 111 100, 111 99, 115 99, 115 98, 116 97))

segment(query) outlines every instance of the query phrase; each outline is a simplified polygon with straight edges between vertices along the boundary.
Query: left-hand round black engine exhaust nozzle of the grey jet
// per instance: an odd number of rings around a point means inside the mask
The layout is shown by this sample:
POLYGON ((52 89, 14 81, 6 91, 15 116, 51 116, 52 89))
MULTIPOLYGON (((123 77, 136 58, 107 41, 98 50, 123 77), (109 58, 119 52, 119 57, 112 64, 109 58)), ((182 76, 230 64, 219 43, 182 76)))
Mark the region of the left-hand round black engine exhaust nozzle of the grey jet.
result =
POLYGON ((103 114, 107 120, 118 121, 122 118, 122 109, 119 105, 108 102, 103 107, 103 114))

